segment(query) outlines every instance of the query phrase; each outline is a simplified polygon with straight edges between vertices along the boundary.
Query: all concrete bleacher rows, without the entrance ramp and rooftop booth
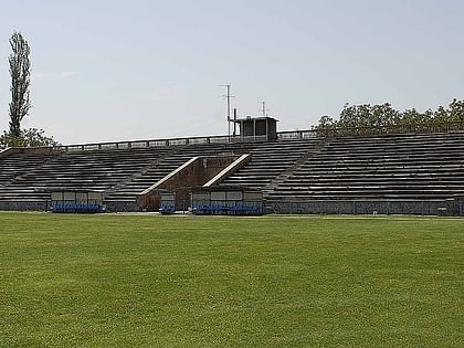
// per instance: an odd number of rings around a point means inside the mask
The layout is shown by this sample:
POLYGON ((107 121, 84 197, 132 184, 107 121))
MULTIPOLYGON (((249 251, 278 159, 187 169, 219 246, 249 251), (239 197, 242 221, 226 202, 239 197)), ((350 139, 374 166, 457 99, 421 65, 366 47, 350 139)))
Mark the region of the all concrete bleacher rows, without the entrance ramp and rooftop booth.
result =
POLYGON ((250 154, 251 160, 219 184, 259 189, 275 212, 382 211, 375 208, 379 202, 434 212, 464 197, 464 133, 295 135, 282 134, 276 141, 191 138, 3 154, 0 209, 44 210, 52 191, 98 190, 109 210, 134 211, 141 191, 192 157, 224 154, 250 154), (362 210, 365 201, 370 205, 362 210), (298 208, 289 209, 294 203, 298 208))

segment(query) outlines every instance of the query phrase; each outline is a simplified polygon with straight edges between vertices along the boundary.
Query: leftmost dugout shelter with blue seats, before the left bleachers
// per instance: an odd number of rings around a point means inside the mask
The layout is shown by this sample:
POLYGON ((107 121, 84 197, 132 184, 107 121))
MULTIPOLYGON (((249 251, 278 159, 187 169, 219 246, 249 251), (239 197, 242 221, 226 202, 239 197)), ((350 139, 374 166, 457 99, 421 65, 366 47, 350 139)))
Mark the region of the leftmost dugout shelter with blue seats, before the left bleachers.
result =
POLYGON ((55 213, 104 212, 103 191, 53 191, 51 211, 55 213))

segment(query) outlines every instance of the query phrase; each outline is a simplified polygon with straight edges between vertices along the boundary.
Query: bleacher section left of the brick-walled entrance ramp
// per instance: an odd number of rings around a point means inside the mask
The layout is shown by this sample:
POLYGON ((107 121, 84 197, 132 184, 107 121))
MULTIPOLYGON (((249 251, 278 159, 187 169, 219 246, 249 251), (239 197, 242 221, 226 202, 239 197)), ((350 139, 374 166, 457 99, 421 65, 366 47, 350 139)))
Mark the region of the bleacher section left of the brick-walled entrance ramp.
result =
POLYGON ((34 204, 23 204, 24 209, 38 207, 36 202, 45 207, 51 192, 57 190, 98 190, 105 192, 105 201, 115 209, 137 210, 137 194, 191 157, 241 154, 247 149, 240 143, 151 143, 148 147, 145 143, 144 147, 74 146, 46 156, 4 156, 0 158, 0 209, 25 202, 34 204))

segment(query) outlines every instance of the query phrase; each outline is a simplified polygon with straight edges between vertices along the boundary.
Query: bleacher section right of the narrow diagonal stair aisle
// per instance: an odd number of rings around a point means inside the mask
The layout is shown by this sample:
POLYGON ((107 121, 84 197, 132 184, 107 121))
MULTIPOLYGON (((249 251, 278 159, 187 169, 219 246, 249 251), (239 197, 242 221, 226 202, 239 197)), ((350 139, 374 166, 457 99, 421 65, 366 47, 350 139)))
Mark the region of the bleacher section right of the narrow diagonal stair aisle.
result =
POLYGON ((334 139, 268 198, 422 200, 453 194, 464 194, 461 133, 334 139))

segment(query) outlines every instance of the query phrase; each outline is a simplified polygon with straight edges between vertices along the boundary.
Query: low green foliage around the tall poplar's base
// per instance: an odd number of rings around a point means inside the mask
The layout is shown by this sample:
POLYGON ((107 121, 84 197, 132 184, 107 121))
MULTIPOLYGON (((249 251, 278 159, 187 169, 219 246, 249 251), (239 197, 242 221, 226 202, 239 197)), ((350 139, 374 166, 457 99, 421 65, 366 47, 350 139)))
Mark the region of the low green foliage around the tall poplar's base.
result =
POLYGON ((0 135, 0 148, 57 145, 59 143, 55 141, 53 137, 48 137, 43 129, 38 128, 20 129, 19 136, 13 136, 6 130, 0 135))

